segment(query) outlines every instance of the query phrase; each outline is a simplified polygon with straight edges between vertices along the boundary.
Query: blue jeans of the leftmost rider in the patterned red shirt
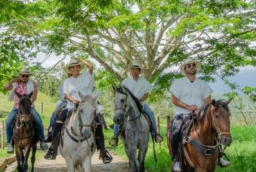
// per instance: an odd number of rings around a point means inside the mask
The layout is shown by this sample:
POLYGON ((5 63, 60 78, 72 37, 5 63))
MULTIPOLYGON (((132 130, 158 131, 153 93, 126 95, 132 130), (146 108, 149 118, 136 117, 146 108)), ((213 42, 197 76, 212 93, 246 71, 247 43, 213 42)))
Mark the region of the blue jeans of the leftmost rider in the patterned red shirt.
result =
MULTIPOLYGON (((18 109, 17 108, 13 108, 12 111, 10 112, 10 114, 8 115, 8 118, 6 119, 6 135, 7 135, 7 142, 10 143, 10 140, 12 138, 12 123, 15 120, 15 116, 17 114, 18 109)), ((37 124, 37 129, 38 129, 38 133, 39 136, 42 138, 42 140, 44 141, 44 126, 43 126, 43 121, 41 119, 41 117, 39 116, 39 114, 37 113, 37 111, 35 110, 35 107, 32 107, 31 109, 32 114, 34 116, 35 122, 37 124)))

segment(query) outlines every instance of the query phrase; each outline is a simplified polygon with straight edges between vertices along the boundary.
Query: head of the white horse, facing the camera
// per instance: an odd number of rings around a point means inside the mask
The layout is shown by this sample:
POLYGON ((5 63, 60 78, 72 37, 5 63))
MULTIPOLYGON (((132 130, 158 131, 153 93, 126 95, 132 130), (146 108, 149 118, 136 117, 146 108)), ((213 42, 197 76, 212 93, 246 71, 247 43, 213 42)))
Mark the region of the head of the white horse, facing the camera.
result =
POLYGON ((91 96, 84 96, 79 92, 80 104, 77 108, 76 119, 80 128, 82 138, 91 137, 91 127, 95 120, 96 105, 91 96))

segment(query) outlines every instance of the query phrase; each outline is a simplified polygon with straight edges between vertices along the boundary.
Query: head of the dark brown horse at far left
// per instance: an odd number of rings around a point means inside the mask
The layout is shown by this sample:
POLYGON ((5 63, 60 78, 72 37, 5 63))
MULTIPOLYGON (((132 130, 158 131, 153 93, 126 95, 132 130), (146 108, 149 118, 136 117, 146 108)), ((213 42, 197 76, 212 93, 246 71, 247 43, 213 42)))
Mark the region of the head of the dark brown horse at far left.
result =
POLYGON ((19 118, 21 125, 24 125, 24 127, 28 126, 31 120, 32 112, 31 112, 31 106, 32 102, 30 98, 33 96, 33 92, 26 95, 21 95, 17 92, 15 92, 16 95, 19 98, 19 118))

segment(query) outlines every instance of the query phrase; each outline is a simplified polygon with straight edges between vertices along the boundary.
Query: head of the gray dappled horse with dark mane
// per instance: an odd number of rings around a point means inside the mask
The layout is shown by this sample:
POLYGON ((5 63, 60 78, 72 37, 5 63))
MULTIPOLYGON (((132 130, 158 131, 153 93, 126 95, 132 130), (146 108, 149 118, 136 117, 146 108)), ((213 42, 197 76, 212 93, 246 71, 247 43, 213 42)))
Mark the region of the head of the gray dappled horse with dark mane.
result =
POLYGON ((115 122, 117 125, 120 125, 122 122, 124 122, 127 111, 129 111, 129 101, 131 99, 128 98, 129 93, 125 90, 124 87, 120 86, 118 88, 113 86, 113 90, 116 92, 114 98, 115 109, 113 122, 115 122))

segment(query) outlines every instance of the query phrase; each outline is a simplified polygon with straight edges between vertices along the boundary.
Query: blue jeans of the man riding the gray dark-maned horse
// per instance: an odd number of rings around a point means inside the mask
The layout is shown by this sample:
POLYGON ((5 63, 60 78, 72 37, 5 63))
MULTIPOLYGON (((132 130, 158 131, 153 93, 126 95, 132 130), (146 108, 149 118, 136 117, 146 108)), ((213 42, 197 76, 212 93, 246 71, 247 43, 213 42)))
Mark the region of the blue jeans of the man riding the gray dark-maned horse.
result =
MULTIPOLYGON (((151 133, 152 133, 152 135, 155 135, 157 128, 156 128, 156 119, 154 116, 154 112, 152 111, 152 109, 149 108, 149 106, 147 104, 144 104, 143 113, 147 114, 147 116, 151 120, 152 125, 153 125, 151 133)), ((113 135, 114 136, 116 136, 116 134, 118 133, 118 129, 119 129, 119 125, 114 124, 114 126, 113 126, 113 135)))

